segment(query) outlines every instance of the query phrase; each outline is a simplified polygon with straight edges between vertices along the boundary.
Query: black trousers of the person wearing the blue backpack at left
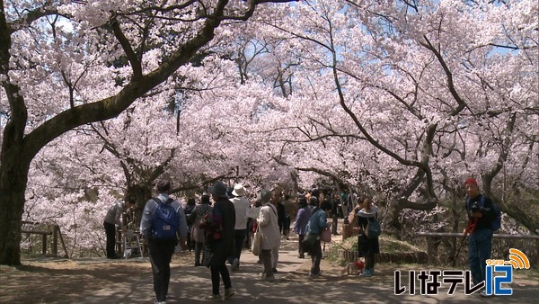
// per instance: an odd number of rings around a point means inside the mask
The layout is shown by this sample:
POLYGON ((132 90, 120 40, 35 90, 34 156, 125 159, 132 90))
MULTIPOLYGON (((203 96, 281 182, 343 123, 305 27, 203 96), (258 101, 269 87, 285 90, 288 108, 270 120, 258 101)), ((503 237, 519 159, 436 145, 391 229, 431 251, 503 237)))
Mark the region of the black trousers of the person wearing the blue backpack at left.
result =
POLYGON ((166 300, 168 285, 171 280, 171 260, 174 248, 178 242, 175 239, 149 239, 150 263, 154 274, 154 291, 157 301, 166 300))

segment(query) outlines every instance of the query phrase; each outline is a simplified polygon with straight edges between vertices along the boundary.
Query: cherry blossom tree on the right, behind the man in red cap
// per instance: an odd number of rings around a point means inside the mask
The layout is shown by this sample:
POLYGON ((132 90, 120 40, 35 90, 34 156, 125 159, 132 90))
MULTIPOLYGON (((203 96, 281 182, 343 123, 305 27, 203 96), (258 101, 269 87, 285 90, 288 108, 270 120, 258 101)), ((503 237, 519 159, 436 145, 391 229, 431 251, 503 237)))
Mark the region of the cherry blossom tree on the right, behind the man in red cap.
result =
POLYGON ((302 58, 289 107, 268 128, 281 131, 273 132, 283 143, 277 158, 340 176, 335 168, 347 164, 360 183, 391 193, 394 225, 403 208, 461 201, 461 182, 474 175, 502 210, 536 230, 511 205, 506 194, 516 188, 505 182, 536 191, 528 183, 537 180, 533 2, 305 1, 290 10, 285 22, 252 20, 278 29, 275 35, 287 37, 279 47, 302 58), (344 139, 353 142, 348 153, 328 152, 330 142, 338 148, 344 139), (365 157, 360 167, 349 166, 358 157, 365 157), (508 167, 517 169, 499 175, 508 167))

